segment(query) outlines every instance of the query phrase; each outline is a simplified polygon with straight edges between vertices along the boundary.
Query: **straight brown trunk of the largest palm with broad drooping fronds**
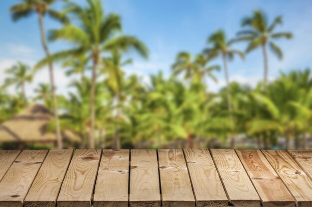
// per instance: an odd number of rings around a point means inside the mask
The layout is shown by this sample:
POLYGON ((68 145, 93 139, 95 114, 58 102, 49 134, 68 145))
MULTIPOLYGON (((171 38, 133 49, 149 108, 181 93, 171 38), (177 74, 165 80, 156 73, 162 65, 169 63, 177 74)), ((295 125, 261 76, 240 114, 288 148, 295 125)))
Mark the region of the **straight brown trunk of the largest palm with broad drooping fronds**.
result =
POLYGON ((90 132, 89 148, 94 148, 94 127, 95 127, 95 86, 96 86, 96 69, 98 60, 93 57, 92 77, 91 77, 91 97, 90 97, 90 132))

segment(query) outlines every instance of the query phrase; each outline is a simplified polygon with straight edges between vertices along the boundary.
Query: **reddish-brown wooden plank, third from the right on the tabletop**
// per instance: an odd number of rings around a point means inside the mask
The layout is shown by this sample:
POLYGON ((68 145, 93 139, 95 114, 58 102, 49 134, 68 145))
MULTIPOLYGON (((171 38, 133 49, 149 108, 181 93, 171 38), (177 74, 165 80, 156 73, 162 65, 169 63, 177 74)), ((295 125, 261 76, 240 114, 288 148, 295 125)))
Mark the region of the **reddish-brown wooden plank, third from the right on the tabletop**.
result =
POLYGON ((295 207, 295 200, 260 150, 236 150, 264 207, 295 207))

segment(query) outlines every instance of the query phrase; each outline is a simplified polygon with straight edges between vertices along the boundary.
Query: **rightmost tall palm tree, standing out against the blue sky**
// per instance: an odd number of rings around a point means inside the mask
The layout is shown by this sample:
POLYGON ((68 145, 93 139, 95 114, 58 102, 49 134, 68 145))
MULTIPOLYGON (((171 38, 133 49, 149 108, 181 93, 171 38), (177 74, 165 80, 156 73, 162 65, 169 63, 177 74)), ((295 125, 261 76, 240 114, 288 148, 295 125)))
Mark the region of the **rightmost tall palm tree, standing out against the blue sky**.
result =
POLYGON ((265 13, 261 10, 255 10, 252 16, 245 17, 242 20, 242 26, 248 26, 249 29, 238 32, 240 37, 237 40, 249 42, 246 53, 258 47, 262 47, 264 58, 264 91, 267 87, 269 72, 267 45, 269 44, 272 52, 281 60, 283 59, 283 52, 273 41, 280 38, 291 39, 293 37, 293 34, 290 32, 275 32, 274 30, 278 24, 282 24, 282 16, 276 17, 274 21, 269 24, 265 13))

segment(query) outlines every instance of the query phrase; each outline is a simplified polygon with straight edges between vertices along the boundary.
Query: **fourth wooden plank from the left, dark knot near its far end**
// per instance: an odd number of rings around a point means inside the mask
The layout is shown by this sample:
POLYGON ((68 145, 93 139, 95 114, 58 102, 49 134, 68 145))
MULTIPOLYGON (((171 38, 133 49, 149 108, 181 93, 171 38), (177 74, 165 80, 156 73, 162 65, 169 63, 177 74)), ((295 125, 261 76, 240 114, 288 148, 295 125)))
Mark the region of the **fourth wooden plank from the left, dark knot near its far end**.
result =
POLYGON ((101 149, 76 149, 57 199, 58 207, 90 207, 101 149))

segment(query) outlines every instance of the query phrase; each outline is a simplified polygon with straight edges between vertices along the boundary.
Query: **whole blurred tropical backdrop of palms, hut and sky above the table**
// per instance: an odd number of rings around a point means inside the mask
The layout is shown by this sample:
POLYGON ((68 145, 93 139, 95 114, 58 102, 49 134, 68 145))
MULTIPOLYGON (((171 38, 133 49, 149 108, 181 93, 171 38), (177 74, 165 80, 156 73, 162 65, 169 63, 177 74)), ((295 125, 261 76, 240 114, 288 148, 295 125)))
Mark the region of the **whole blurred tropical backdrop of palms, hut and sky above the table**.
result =
POLYGON ((309 0, 4 0, 0 148, 312 148, 309 0))

